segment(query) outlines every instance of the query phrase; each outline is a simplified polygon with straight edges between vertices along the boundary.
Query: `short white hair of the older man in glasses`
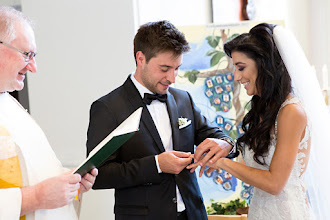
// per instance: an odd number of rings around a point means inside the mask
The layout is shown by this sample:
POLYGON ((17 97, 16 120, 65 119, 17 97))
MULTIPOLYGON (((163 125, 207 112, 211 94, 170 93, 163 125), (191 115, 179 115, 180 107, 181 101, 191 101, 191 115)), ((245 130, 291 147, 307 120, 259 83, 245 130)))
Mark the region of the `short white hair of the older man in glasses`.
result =
POLYGON ((25 22, 34 27, 34 23, 30 18, 22 12, 9 6, 0 6, 0 40, 10 43, 16 38, 15 25, 18 22, 25 22))

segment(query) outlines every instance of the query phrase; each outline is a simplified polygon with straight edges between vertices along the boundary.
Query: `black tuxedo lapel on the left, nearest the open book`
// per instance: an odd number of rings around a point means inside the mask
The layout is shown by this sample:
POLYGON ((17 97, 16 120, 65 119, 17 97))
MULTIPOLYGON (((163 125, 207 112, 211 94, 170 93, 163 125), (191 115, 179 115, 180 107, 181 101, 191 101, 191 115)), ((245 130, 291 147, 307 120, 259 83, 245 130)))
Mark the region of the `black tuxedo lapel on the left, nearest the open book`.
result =
POLYGON ((143 107, 141 121, 144 124, 144 127, 146 128, 146 130, 150 133, 151 137, 156 142, 156 145, 157 145, 158 149, 160 150, 160 152, 164 152, 165 148, 163 146, 162 140, 160 139, 156 125, 155 125, 154 121, 152 120, 152 117, 148 111, 148 108, 143 103, 139 91, 135 87, 135 85, 132 82, 130 77, 131 76, 129 76, 128 79, 126 80, 126 82, 124 83, 124 88, 129 97, 128 101, 131 103, 133 110, 135 110, 141 106, 143 107))

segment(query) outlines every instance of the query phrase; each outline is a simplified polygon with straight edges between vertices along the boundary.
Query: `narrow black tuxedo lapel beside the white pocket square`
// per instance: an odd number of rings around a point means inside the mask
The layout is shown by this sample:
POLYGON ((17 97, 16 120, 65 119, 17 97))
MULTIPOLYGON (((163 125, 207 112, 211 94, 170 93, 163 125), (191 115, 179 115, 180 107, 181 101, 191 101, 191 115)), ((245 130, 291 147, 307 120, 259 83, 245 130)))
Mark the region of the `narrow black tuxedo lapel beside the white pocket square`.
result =
POLYGON ((173 150, 179 150, 178 108, 175 99, 170 92, 167 93, 166 105, 172 128, 173 150))

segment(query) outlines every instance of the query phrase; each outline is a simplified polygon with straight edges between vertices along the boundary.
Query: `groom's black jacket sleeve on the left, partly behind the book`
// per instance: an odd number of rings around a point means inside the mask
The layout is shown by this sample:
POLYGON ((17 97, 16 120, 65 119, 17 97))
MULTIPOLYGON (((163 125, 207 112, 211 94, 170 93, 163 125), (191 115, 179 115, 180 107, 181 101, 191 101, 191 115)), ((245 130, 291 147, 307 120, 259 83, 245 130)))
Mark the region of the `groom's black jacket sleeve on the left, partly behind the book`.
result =
MULTIPOLYGON (((106 104, 101 101, 94 102, 90 110, 87 153, 89 154, 120 123, 106 104)), ((120 189, 161 182, 154 155, 123 162, 120 153, 121 148, 98 168, 99 174, 93 189, 120 189)))

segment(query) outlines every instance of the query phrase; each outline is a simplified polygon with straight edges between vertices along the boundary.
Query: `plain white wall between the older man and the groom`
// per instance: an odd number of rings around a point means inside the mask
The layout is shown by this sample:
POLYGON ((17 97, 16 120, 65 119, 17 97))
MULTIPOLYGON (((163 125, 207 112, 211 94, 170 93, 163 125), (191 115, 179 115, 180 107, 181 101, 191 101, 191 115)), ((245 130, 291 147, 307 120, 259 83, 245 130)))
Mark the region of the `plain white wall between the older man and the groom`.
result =
MULTIPOLYGON (((86 155, 91 103, 135 69, 132 2, 22 0, 22 11, 36 21, 31 114, 63 165, 75 167, 86 155)), ((81 219, 114 219, 113 190, 88 192, 82 208, 81 219)))

